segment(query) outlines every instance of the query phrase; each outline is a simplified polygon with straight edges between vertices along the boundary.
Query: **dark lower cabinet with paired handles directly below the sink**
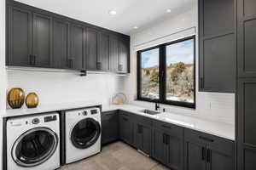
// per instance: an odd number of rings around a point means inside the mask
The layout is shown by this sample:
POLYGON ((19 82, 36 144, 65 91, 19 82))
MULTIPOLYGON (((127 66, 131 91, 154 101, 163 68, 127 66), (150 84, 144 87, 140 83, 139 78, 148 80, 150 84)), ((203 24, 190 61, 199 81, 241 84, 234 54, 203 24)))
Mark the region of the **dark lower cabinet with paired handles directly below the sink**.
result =
POLYGON ((134 145, 148 156, 151 154, 152 121, 147 117, 134 117, 134 145))

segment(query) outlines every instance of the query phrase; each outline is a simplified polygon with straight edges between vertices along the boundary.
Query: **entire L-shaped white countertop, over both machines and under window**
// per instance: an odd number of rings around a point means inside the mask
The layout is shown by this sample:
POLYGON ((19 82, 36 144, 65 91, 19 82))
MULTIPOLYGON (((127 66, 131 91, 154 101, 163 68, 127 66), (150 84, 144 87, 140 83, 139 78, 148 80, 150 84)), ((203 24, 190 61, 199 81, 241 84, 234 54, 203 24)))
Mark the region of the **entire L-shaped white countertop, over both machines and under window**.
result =
MULTIPOLYGON (((77 109, 83 107, 89 107, 93 105, 102 105, 99 102, 92 102, 92 101, 79 101, 73 103, 62 103, 62 104, 55 104, 55 105, 38 105, 38 108, 35 109, 9 109, 5 111, 2 115, 3 117, 9 116, 26 116, 36 113, 44 113, 44 112, 51 112, 51 111, 65 111, 69 109, 77 109)), ((160 113, 158 115, 148 115, 143 112, 140 112, 144 109, 140 106, 136 105, 102 105, 102 111, 113 111, 113 110, 124 110, 129 111, 131 113, 141 115, 141 116, 148 116, 155 120, 159 120, 162 122, 169 122, 175 124, 180 127, 187 127, 193 130, 201 131, 203 133, 209 133, 212 135, 216 135, 222 137, 224 139, 235 140, 235 126, 232 124, 224 123, 224 122, 212 122, 209 120, 204 120, 201 118, 196 118, 193 116, 184 116, 182 114, 177 113, 160 113)))

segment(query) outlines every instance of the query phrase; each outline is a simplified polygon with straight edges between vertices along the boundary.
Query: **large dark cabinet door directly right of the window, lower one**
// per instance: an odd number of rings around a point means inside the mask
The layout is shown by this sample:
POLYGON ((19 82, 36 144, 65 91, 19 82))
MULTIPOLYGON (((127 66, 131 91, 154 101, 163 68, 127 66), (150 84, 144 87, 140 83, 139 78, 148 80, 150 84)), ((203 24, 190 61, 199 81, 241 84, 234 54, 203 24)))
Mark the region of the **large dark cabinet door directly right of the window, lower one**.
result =
POLYGON ((235 92, 236 45, 234 34, 204 41, 200 69, 201 91, 235 92))

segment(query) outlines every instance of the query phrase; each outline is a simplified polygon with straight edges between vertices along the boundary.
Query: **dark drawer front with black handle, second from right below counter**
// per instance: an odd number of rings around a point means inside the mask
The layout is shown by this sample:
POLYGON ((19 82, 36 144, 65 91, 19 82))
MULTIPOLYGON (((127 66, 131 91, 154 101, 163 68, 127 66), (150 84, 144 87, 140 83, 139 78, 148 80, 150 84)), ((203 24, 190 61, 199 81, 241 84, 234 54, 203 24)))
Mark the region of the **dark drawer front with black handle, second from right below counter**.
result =
POLYGON ((178 127, 167 122, 154 121, 153 126, 168 133, 172 133, 175 136, 183 137, 183 127, 178 127))

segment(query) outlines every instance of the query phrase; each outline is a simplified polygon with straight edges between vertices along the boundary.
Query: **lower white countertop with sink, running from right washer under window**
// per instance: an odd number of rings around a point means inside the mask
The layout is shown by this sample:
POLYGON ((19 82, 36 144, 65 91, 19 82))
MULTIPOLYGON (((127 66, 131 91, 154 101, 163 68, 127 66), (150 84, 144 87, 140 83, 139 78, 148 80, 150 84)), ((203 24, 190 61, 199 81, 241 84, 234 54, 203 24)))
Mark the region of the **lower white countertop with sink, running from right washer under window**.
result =
POLYGON ((102 107, 102 111, 113 111, 118 109, 129 111, 141 116, 147 116, 162 122, 169 122, 180 127, 187 127, 189 129, 197 130, 203 133, 209 133, 224 139, 235 140, 235 125, 224 122, 212 122, 193 116, 184 116, 170 112, 163 112, 157 115, 148 115, 141 112, 147 108, 135 105, 110 105, 109 107, 102 107))

